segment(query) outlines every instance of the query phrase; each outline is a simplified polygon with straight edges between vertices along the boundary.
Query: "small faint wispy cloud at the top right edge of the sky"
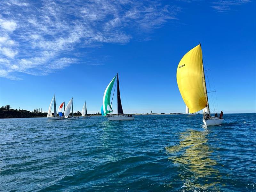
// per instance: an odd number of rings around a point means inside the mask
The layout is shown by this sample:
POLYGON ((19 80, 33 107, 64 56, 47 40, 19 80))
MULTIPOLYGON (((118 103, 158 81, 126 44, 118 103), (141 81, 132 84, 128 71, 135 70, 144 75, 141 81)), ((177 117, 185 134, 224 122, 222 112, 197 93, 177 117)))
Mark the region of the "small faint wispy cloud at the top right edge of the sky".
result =
POLYGON ((227 12, 232 6, 241 5, 250 2, 250 0, 220 0, 213 2, 212 8, 217 12, 227 12))

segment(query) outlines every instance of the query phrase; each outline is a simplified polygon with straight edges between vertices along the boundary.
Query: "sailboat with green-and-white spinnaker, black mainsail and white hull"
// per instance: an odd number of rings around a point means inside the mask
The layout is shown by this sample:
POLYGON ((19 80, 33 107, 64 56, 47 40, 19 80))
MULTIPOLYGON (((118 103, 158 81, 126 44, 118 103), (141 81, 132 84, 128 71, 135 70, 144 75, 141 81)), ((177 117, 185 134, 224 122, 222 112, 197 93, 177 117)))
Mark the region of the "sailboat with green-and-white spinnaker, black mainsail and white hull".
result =
MULTIPOLYGON (((114 90, 115 92, 115 90, 114 90)), ((113 95, 114 96, 114 95, 113 95)), ((112 98, 113 100, 113 98, 112 98)), ((127 116, 124 115, 123 112, 123 108, 122 108, 122 103, 121 103, 121 97, 120 97, 120 89, 119 89, 119 79, 118 79, 118 73, 117 75, 112 79, 112 81, 108 84, 104 95, 103 95, 103 105, 101 107, 101 114, 103 116, 107 116, 109 121, 113 121, 113 120, 134 120, 134 117, 132 117, 132 115, 127 116), (113 112, 112 109, 112 101, 110 102, 111 99, 111 91, 114 85, 114 82, 116 80, 117 77, 117 116, 112 116, 109 115, 111 112, 113 112), (109 110, 108 110, 109 108, 109 110)))

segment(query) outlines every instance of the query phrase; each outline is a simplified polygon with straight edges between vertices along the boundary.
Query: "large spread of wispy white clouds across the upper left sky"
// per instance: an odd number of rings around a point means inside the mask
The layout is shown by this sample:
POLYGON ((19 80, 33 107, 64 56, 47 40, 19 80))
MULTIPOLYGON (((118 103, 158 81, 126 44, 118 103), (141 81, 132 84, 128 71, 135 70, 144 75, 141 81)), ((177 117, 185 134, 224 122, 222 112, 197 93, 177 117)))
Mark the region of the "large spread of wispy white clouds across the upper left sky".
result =
POLYGON ((14 80, 18 74, 47 75, 79 63, 81 47, 126 44, 140 31, 176 20, 180 12, 154 0, 2 0, 0 6, 0 75, 14 80))

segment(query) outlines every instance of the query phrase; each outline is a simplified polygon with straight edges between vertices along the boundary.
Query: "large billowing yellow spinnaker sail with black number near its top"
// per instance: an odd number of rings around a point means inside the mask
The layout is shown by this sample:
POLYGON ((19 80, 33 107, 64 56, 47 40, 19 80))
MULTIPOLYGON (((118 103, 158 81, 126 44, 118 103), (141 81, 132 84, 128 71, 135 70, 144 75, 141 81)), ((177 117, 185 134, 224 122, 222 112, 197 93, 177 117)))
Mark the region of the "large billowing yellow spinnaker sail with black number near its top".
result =
POLYGON ((201 45, 197 45, 180 60, 177 83, 180 94, 190 113, 207 107, 203 85, 203 61, 201 45))

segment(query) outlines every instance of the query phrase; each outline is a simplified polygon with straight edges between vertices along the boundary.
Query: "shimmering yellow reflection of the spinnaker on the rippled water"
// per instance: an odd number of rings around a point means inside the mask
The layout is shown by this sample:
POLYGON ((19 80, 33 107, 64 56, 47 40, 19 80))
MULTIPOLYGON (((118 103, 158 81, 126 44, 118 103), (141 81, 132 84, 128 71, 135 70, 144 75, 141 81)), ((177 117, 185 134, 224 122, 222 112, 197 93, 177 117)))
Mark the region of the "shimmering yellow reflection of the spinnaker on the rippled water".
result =
POLYGON ((165 147, 168 158, 178 165, 179 178, 186 190, 218 190, 221 175, 212 167, 217 162, 211 159, 213 151, 207 145, 207 134, 208 130, 188 130, 180 134, 178 145, 165 147))

